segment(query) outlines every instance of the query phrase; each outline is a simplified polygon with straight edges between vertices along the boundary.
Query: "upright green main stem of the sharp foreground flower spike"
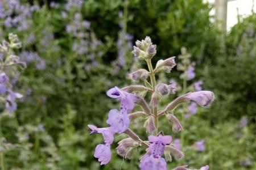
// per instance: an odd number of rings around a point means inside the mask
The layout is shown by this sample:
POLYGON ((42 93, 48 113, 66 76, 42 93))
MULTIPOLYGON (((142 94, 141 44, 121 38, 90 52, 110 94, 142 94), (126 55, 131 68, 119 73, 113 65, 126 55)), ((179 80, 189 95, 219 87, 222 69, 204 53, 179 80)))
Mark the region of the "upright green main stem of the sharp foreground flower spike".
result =
MULTIPOLYGON (((151 86, 152 86, 152 90, 153 90, 153 94, 154 94, 156 81, 155 81, 155 74, 154 74, 154 70, 152 67, 151 59, 146 59, 146 62, 147 62, 148 70, 150 71, 151 86)), ((156 105, 156 106, 153 105, 152 111, 153 111, 153 114, 155 117, 155 127, 156 127, 155 135, 157 135, 158 134, 158 105, 156 105)))

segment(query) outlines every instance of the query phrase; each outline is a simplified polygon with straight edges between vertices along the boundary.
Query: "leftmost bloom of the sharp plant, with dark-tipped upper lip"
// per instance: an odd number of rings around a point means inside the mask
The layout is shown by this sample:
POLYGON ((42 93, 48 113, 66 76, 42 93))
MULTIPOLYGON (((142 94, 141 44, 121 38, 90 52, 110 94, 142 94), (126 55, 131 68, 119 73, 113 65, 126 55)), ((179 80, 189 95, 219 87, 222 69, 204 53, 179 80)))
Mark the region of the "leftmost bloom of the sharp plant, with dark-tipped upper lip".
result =
POLYGON ((92 130, 90 134, 101 133, 106 145, 111 145, 114 141, 114 130, 112 128, 97 128, 94 125, 88 125, 92 130))

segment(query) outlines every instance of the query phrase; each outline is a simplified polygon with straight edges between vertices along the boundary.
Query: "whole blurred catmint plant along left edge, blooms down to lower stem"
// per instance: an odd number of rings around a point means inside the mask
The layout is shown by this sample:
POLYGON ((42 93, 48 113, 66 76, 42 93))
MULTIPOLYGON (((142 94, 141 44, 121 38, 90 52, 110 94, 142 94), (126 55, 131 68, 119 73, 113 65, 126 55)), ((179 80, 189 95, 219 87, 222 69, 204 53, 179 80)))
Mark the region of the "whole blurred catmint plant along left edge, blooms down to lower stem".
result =
MULTIPOLYGON (((15 78, 15 75, 18 73, 17 66, 22 67, 23 69, 26 67, 26 63, 20 61, 19 56, 16 56, 14 53, 14 50, 19 48, 21 48, 21 42, 19 41, 18 36, 13 33, 9 34, 9 41, 3 40, 0 44, 0 53, 2 54, 2 57, 0 58, 0 99, 2 101, 1 109, 5 111, 0 116, 0 122, 2 122, 2 119, 6 116, 15 117, 13 112, 17 109, 16 99, 23 97, 22 94, 14 91, 12 84, 13 78, 15 78)), ((20 136, 18 135, 18 137, 20 136)), ((0 144, 2 147, 0 152, 1 168, 5 170, 5 152, 11 150, 15 146, 6 142, 5 137, 3 137, 1 125, 0 144)))

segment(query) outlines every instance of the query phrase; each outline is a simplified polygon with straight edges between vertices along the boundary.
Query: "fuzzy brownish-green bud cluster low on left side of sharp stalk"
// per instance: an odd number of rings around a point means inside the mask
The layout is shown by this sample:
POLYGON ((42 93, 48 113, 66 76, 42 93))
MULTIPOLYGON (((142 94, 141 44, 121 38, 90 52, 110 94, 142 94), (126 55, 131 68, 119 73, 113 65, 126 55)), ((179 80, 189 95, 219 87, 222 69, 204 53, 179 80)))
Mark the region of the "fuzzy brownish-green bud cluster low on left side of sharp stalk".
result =
POLYGON ((139 143, 134 141, 131 138, 125 138, 122 141, 118 142, 118 147, 115 148, 117 150, 117 154, 122 156, 125 159, 131 159, 131 157, 137 151, 137 147, 139 143))

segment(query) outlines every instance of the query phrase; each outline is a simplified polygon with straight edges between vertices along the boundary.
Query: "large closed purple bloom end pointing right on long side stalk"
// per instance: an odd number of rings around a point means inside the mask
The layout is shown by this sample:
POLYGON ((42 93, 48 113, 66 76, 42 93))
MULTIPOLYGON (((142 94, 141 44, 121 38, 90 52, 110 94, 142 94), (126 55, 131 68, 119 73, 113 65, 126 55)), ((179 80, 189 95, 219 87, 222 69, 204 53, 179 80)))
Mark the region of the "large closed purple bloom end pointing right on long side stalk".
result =
POLYGON ((214 100, 214 94, 211 91, 197 91, 186 96, 189 100, 195 101, 201 107, 209 107, 214 100))

